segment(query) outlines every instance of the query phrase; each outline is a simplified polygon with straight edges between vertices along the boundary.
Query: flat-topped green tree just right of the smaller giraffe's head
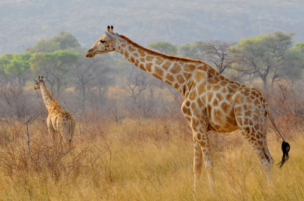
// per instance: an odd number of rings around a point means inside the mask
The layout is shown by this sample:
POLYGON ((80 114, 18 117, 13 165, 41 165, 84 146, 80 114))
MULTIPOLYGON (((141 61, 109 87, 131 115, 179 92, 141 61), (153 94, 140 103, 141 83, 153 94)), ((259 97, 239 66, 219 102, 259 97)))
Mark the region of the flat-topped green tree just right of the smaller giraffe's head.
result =
POLYGON ((52 53, 34 53, 30 59, 31 69, 35 75, 46 78, 52 94, 58 96, 66 85, 67 72, 76 64, 79 53, 57 50, 52 53))

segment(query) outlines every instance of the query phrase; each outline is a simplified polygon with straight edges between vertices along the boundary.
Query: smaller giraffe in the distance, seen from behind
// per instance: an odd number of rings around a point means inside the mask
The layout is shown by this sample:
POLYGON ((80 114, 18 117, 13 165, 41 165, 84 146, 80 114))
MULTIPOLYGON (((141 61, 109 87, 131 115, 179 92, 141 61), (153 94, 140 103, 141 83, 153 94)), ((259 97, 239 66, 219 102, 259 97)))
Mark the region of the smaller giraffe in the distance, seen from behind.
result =
POLYGON ((74 132, 75 132, 75 120, 70 113, 62 109, 57 101, 50 95, 45 86, 45 79, 38 77, 38 80, 34 79, 36 85, 34 90, 41 89, 42 97, 45 106, 49 112, 47 116, 47 127, 50 133, 50 137, 53 142, 56 139, 56 132, 63 138, 64 143, 71 144, 74 132))

